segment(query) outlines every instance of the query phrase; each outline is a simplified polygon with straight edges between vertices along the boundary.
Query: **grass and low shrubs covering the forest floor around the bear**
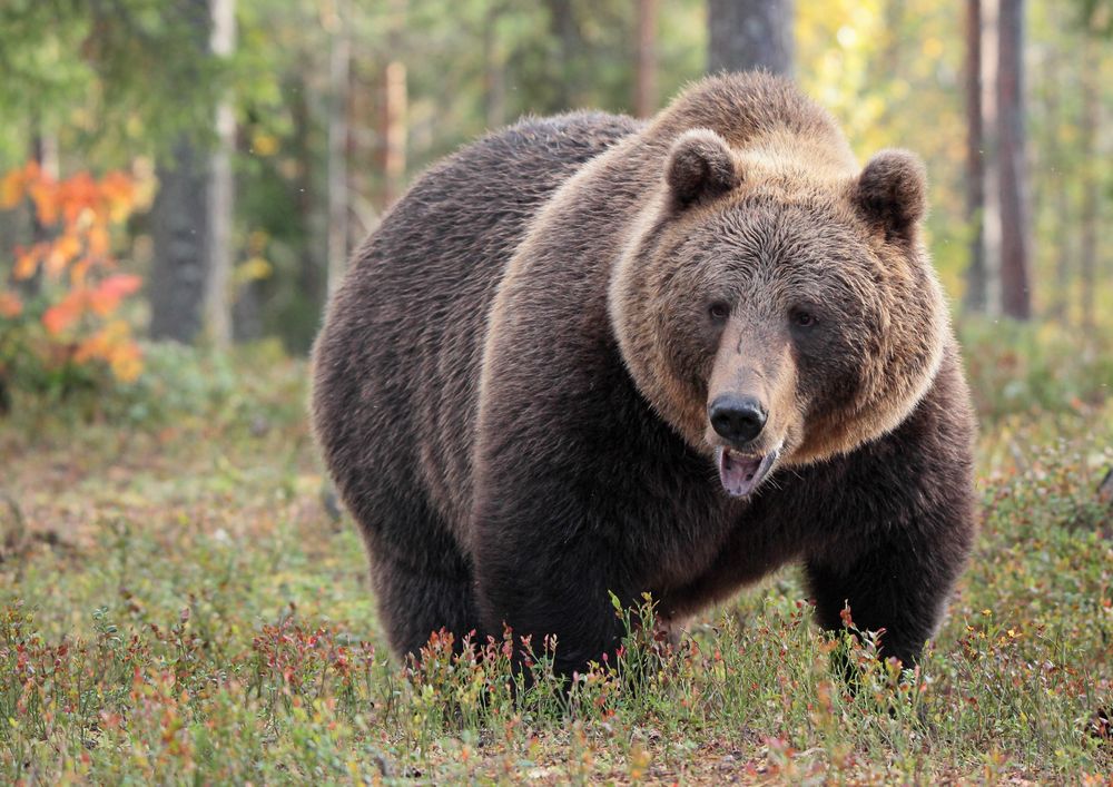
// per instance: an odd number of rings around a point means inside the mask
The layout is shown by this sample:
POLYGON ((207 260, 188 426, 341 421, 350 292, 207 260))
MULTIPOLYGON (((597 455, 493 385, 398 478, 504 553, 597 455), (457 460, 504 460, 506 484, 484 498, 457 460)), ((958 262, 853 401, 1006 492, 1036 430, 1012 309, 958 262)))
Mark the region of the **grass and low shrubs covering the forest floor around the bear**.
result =
POLYGON ((0 781, 1104 784, 1113 356, 1003 335, 967 336, 984 524, 915 673, 874 659, 868 633, 820 636, 791 570, 674 652, 631 626, 569 695, 543 650, 514 686, 502 641, 475 659, 434 639, 398 665, 362 542, 322 504, 303 363, 154 348, 146 380, 104 401, 17 400, 0 781), (861 665, 854 696, 836 650, 861 665))

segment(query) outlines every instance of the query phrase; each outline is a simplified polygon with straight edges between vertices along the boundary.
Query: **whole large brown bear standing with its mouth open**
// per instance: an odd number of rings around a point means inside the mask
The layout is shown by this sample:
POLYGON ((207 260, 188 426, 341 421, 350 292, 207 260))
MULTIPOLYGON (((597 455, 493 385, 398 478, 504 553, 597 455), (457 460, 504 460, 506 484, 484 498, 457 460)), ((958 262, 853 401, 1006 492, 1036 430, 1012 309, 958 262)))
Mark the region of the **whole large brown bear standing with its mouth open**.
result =
POLYGON ((906 665, 975 528, 974 421, 910 154, 855 163, 787 80, 642 124, 530 119, 356 253, 313 417, 398 653, 503 626, 582 667, 610 593, 682 621, 802 562, 906 665))

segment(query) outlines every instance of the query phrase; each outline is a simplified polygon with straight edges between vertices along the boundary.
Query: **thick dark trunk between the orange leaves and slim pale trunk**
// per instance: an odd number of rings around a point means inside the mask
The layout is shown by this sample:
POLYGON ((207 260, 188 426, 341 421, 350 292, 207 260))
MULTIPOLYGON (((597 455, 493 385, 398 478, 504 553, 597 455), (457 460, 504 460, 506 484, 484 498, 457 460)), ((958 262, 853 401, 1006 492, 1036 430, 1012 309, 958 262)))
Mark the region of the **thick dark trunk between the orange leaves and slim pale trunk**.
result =
MULTIPOLYGON (((208 0, 181 0, 198 57, 209 53, 208 0)), ((208 274, 208 157, 183 135, 169 160, 157 166, 158 195, 151 207, 155 257, 149 279, 151 338, 189 343, 201 329, 208 274)))

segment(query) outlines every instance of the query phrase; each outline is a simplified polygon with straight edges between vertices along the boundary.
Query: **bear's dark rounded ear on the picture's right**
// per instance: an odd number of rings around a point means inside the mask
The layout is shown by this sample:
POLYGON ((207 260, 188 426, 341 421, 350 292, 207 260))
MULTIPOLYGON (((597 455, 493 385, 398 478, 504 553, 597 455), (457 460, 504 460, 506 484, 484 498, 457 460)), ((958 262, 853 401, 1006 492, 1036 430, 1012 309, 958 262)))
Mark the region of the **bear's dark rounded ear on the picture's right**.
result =
POLYGON ((863 216, 886 238, 912 240, 927 211, 927 170, 915 154, 881 150, 858 176, 854 196, 863 216))

